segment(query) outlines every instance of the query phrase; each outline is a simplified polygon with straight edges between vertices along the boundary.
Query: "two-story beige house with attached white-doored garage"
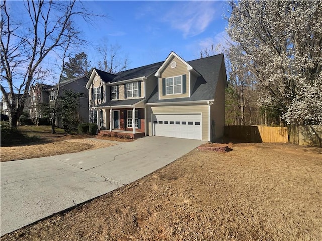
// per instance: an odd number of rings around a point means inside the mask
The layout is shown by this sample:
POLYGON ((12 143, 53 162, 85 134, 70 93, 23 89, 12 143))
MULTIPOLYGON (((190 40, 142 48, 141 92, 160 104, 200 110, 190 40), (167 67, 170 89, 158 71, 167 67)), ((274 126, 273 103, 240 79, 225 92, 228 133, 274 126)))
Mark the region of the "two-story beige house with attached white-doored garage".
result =
POLYGON ((223 136, 223 54, 186 62, 171 52, 163 62, 115 75, 94 69, 86 87, 91 121, 109 132, 204 141, 223 136))

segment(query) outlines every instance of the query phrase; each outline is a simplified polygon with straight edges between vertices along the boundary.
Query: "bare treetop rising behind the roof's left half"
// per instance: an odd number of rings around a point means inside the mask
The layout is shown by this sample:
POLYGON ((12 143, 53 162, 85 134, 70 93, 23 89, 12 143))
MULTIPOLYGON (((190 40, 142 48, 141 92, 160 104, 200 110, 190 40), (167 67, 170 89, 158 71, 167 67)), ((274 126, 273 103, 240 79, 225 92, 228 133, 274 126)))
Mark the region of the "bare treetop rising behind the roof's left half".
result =
POLYGON ((98 62, 98 67, 108 73, 118 73, 127 68, 127 58, 120 56, 121 47, 119 45, 104 45, 99 47, 101 60, 98 62))

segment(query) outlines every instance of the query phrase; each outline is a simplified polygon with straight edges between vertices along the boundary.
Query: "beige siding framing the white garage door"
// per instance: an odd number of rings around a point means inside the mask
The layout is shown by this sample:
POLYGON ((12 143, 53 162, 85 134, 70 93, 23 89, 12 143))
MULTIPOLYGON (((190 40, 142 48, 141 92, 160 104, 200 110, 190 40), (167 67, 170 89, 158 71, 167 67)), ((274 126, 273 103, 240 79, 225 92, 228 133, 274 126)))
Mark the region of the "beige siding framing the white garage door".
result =
POLYGON ((169 105, 169 106, 148 106, 146 112, 146 119, 148 122, 148 135, 151 133, 151 114, 179 114, 179 113, 201 113, 202 116, 202 140, 208 141, 209 131, 209 106, 207 104, 196 105, 169 105))

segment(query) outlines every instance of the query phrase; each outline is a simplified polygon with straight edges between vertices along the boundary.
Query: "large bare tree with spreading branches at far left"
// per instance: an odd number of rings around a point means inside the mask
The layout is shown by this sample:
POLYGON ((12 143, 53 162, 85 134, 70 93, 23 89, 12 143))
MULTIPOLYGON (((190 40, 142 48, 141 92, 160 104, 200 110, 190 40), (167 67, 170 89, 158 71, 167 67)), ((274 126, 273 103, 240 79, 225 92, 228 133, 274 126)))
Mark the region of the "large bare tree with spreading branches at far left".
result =
POLYGON ((70 39, 79 39, 73 16, 85 17, 86 11, 75 4, 75 0, 24 1, 26 16, 21 24, 15 10, 6 1, 2 2, 1 78, 6 81, 2 81, 0 88, 12 127, 23 112, 30 86, 35 80, 43 79, 50 69, 41 66, 44 59, 54 50, 66 49, 70 39), (21 94, 16 105, 12 104, 15 93, 21 94))

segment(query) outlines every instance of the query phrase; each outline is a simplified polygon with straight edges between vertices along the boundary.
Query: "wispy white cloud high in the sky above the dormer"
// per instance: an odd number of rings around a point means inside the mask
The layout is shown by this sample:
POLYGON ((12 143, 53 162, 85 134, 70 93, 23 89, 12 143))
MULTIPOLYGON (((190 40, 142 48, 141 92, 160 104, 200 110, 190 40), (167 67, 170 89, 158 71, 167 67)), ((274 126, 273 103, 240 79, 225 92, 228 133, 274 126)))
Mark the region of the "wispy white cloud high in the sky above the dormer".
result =
POLYGON ((182 31, 184 37, 192 37, 205 31, 217 12, 212 1, 179 2, 164 15, 163 21, 182 31))

